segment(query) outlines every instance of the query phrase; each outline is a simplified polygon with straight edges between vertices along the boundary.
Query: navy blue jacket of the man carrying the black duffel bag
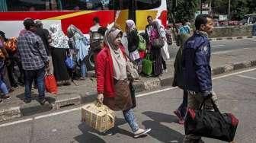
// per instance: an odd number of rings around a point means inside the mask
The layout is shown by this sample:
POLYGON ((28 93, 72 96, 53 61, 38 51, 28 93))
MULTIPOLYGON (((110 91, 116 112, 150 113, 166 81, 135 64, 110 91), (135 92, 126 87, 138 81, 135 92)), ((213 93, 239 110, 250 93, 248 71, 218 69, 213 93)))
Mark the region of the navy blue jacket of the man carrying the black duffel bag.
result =
POLYGON ((186 90, 195 92, 212 90, 210 53, 210 41, 203 33, 195 32, 184 43, 182 65, 186 90))

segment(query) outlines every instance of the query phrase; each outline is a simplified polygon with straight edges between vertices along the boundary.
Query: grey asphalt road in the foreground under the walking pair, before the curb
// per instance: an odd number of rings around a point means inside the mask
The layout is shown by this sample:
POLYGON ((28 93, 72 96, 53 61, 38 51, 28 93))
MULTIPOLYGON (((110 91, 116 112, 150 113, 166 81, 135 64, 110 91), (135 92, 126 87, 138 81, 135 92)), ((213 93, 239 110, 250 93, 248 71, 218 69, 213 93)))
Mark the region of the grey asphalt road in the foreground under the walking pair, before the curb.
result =
MULTIPOLYGON (((214 77, 213 88, 219 96, 219 109, 239 119, 235 141, 256 141, 256 68, 236 71, 233 75, 214 77)), ((79 108, 66 108, 58 113, 27 116, 0 124, 1 143, 124 143, 182 142, 184 127, 177 124, 173 111, 181 103, 182 91, 165 87, 155 92, 139 93, 135 110, 142 128, 152 128, 145 138, 133 138, 122 113, 117 113, 116 134, 102 136, 81 122, 79 108), (158 92, 158 93, 156 93, 158 92), (62 112, 62 113, 59 113, 62 112), (26 121, 27 119, 27 121, 26 121)), ((203 138, 206 143, 223 141, 203 138)))

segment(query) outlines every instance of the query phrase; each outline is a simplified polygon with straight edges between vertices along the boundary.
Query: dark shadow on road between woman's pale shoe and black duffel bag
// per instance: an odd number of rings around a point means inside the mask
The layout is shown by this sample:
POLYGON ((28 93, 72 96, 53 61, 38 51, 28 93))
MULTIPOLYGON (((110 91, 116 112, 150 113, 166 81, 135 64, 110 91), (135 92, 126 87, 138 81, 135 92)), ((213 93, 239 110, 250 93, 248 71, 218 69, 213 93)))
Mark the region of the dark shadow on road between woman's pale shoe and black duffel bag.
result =
POLYGON ((142 114, 149 116, 151 119, 153 119, 142 122, 143 126, 152 129, 152 131, 149 132, 150 136, 162 142, 183 142, 183 134, 173 129, 170 129, 168 126, 163 126, 161 124, 162 122, 177 122, 178 119, 176 116, 152 111, 147 111, 142 114))

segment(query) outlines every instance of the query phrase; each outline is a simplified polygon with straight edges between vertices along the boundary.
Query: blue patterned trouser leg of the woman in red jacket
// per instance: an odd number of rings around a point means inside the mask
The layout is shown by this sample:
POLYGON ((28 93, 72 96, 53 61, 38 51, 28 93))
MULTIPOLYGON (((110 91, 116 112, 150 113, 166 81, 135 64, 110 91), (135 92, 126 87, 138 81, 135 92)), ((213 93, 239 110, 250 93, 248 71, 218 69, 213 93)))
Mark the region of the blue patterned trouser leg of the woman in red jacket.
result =
POLYGON ((128 122, 128 124, 130 125, 132 131, 133 132, 138 131, 139 125, 136 121, 136 117, 133 113, 133 110, 130 109, 130 110, 123 111, 123 116, 124 116, 124 119, 126 120, 126 122, 128 122))

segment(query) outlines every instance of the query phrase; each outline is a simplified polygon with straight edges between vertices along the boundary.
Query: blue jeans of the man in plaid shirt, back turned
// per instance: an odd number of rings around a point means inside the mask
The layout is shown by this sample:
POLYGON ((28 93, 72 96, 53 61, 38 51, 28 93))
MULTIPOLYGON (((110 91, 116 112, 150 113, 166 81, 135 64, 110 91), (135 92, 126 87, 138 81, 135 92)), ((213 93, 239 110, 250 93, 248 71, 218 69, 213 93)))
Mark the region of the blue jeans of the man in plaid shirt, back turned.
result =
POLYGON ((36 79, 38 88, 38 97, 43 99, 45 97, 45 87, 44 87, 44 75, 45 68, 40 68, 37 70, 24 70, 25 75, 25 98, 31 98, 31 85, 32 81, 36 79))

